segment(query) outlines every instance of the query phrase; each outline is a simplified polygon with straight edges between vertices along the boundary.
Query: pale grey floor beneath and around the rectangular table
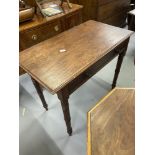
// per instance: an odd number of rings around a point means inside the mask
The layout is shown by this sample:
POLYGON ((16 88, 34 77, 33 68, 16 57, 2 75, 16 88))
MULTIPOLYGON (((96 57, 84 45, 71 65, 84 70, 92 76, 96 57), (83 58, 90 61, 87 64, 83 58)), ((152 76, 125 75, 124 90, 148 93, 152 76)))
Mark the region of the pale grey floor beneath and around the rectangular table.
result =
MULTIPOLYGON (((117 87, 134 87, 134 39, 132 35, 117 87)), ((20 155, 86 155, 87 112, 110 91, 116 61, 117 58, 70 96, 73 128, 70 137, 57 96, 44 91, 49 105, 46 112, 30 77, 20 76, 20 155)))

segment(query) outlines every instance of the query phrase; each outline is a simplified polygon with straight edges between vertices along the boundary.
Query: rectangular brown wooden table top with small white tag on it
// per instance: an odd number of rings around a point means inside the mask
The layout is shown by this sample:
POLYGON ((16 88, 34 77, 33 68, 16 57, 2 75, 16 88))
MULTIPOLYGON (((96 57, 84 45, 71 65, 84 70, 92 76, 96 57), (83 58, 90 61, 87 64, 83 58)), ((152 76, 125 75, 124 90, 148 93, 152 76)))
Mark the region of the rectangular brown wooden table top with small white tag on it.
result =
POLYGON ((132 33, 90 20, 20 52, 20 66, 54 94, 132 33))

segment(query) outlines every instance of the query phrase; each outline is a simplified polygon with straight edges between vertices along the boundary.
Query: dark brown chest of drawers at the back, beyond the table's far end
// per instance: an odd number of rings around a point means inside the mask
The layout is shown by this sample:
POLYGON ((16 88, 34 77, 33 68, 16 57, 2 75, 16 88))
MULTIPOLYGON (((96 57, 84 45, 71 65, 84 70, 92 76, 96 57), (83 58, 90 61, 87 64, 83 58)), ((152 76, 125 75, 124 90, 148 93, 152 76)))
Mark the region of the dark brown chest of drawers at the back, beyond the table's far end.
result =
POLYGON ((126 23, 130 0, 70 0, 84 6, 84 21, 93 19, 114 26, 123 27, 126 23))

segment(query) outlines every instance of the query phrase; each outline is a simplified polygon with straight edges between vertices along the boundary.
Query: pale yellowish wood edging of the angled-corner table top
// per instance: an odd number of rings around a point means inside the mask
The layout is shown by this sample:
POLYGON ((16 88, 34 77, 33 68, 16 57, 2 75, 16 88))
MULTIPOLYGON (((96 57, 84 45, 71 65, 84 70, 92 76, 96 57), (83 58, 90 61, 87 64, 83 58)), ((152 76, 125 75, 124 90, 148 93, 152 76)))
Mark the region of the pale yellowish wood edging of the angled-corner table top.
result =
POLYGON ((91 112, 96 109, 100 104, 102 104, 112 93, 114 93, 116 90, 119 89, 128 89, 128 90, 135 90, 135 88, 121 88, 121 87, 115 87, 112 89, 110 92, 108 92, 103 98, 100 99, 97 104, 92 107, 88 112, 87 112, 87 155, 92 155, 91 153, 91 130, 90 130, 90 117, 91 117, 91 112))

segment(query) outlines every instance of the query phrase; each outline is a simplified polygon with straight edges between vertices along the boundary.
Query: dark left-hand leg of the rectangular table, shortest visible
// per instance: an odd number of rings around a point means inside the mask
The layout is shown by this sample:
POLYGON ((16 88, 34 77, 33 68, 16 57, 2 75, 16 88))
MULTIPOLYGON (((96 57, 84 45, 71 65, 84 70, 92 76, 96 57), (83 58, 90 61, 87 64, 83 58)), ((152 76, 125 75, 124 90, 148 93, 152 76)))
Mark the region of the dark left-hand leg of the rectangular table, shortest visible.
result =
POLYGON ((41 101, 42 101, 43 107, 46 110, 48 110, 48 105, 47 105, 47 103, 45 101, 45 98, 44 98, 44 95, 43 95, 43 91, 42 91, 42 88, 40 87, 40 84, 35 79, 33 79, 32 77, 31 77, 31 79, 32 79, 32 82, 33 82, 33 84, 34 84, 34 86, 35 86, 35 88, 37 90, 37 93, 38 93, 41 101))

